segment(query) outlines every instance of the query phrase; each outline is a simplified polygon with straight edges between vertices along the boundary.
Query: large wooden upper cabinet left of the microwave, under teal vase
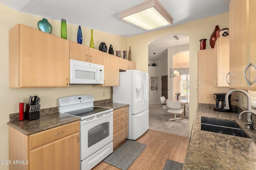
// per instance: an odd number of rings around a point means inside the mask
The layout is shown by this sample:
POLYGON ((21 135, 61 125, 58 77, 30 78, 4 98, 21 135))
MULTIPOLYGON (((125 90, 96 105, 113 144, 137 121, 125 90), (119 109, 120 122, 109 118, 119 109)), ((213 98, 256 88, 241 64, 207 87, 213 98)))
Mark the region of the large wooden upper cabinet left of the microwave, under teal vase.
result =
POLYGON ((69 41, 22 24, 9 30, 11 88, 68 87, 69 41))

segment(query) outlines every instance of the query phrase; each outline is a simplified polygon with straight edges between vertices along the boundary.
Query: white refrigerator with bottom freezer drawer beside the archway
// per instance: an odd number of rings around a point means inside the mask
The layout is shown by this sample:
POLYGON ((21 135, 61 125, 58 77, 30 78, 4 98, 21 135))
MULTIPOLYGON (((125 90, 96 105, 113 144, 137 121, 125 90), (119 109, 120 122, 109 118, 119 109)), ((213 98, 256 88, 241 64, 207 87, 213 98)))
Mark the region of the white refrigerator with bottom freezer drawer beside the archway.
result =
POLYGON ((136 140, 149 128, 148 73, 127 70, 119 78, 119 86, 113 87, 113 103, 130 104, 127 139, 136 140))

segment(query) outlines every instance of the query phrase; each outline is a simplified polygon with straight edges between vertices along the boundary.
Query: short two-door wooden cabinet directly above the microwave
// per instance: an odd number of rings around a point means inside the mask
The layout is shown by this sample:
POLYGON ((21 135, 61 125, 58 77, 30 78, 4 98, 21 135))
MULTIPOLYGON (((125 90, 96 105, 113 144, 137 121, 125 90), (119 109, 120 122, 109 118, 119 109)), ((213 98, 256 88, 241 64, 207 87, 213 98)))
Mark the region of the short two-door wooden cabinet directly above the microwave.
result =
POLYGON ((102 51, 70 41, 69 58, 102 65, 102 51))

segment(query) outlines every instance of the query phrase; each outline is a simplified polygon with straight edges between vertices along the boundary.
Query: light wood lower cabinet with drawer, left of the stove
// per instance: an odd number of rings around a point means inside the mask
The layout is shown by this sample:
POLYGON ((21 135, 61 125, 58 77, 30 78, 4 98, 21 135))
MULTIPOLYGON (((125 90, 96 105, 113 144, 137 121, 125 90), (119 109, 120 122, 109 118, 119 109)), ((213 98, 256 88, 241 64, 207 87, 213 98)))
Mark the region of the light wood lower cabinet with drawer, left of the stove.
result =
POLYGON ((80 170, 80 121, 32 135, 9 127, 9 170, 80 170))

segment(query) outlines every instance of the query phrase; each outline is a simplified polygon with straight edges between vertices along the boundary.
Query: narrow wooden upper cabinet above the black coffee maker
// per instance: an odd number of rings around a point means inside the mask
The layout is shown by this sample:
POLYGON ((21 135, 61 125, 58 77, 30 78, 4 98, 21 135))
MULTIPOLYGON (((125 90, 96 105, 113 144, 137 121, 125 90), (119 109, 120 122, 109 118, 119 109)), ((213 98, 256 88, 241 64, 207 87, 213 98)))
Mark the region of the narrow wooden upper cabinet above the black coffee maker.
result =
POLYGON ((213 57, 214 86, 229 87, 229 36, 217 39, 213 57), (226 77, 228 80, 226 80, 226 77))

